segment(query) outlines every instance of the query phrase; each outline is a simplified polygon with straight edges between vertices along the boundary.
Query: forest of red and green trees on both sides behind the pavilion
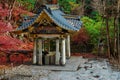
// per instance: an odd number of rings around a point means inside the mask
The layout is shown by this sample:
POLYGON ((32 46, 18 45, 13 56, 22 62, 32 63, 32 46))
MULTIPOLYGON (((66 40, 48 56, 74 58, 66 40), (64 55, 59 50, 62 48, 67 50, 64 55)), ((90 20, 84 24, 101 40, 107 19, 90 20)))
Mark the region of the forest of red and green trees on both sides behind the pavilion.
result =
MULTIPOLYGON (((26 16, 37 13, 42 0, 0 1, 0 54, 32 50, 33 43, 15 30, 26 16)), ((83 23, 72 35, 72 53, 93 53, 120 63, 120 0, 59 0, 66 14, 79 15, 83 23)))

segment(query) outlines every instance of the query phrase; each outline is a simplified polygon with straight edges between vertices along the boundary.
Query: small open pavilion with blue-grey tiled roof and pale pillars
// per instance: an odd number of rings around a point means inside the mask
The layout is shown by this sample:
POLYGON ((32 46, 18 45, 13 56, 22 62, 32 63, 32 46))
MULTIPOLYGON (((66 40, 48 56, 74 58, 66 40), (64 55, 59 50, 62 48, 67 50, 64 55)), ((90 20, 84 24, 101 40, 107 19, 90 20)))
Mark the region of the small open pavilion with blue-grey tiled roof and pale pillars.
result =
POLYGON ((79 31, 81 25, 79 16, 65 14, 57 4, 47 4, 40 7, 38 14, 26 17, 14 33, 34 39, 33 64, 65 65, 71 56, 70 34, 79 31), (54 40, 55 51, 44 55, 46 39, 54 40))

